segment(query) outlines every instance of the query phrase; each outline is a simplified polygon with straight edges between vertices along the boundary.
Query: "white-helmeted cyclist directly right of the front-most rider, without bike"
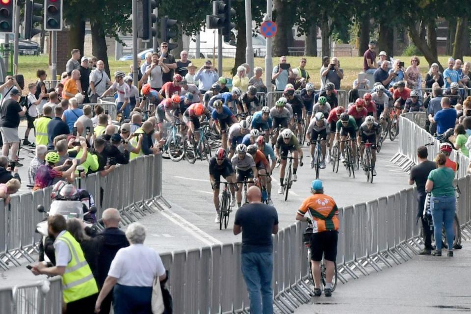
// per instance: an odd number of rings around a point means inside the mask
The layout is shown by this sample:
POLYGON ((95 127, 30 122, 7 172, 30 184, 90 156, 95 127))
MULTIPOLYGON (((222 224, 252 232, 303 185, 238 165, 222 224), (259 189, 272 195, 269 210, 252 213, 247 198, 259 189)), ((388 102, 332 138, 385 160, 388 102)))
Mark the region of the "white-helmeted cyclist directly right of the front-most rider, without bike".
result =
POLYGON ((239 144, 235 148, 235 154, 232 158, 232 166, 235 169, 237 176, 237 206, 240 207, 242 203, 242 183, 247 180, 248 185, 253 185, 254 178, 257 178, 258 172, 255 165, 254 158, 247 154, 247 146, 239 144))

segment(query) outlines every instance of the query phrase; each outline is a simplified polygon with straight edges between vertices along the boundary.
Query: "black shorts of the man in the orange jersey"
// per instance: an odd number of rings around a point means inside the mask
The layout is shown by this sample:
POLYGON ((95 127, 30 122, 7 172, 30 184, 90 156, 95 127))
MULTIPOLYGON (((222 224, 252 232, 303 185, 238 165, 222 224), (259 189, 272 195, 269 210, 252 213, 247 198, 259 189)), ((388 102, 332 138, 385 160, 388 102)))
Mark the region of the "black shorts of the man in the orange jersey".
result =
POLYGON ((337 259, 337 241, 339 233, 335 230, 324 231, 311 235, 311 260, 322 261, 322 254, 327 261, 335 262, 337 259))

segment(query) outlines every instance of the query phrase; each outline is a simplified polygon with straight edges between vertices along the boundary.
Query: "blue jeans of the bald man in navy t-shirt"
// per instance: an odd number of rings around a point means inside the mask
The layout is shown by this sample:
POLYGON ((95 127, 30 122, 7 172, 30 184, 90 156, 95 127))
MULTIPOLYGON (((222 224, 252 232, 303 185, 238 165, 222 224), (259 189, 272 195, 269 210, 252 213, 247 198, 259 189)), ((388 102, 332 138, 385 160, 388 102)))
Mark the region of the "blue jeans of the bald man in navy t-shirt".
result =
POLYGON ((249 292, 250 313, 273 314, 273 253, 242 253, 241 268, 249 292))

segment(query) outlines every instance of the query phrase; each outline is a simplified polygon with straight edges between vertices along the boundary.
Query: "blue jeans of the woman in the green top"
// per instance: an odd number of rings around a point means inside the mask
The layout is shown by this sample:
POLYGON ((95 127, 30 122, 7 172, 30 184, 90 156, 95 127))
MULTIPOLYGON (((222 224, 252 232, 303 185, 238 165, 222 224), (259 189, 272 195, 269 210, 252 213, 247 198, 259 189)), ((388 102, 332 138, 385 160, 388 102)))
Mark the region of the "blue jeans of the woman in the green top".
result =
POLYGON ((453 220, 455 218, 455 196, 432 196, 430 198, 430 209, 432 210, 433 235, 435 236, 435 247, 442 249, 442 224, 445 225, 446 241, 448 250, 453 248, 453 220))

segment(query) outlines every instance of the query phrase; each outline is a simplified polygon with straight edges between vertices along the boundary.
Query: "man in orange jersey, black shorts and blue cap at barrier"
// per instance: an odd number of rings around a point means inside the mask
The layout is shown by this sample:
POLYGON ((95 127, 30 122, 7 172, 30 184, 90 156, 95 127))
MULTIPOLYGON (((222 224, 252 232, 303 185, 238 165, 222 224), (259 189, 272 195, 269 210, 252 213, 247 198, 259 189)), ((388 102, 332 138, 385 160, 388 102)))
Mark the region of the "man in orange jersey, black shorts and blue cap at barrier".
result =
POLYGON ((325 296, 332 295, 332 278, 335 273, 337 259, 337 241, 339 230, 339 209, 334 199, 324 194, 322 181, 314 180, 311 183, 311 193, 304 200, 296 213, 296 220, 311 221, 313 234, 311 235, 311 269, 314 277, 314 296, 322 294, 320 290, 320 261, 322 255, 325 260, 325 296), (305 217, 309 211, 309 216, 305 217))

